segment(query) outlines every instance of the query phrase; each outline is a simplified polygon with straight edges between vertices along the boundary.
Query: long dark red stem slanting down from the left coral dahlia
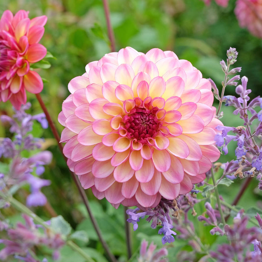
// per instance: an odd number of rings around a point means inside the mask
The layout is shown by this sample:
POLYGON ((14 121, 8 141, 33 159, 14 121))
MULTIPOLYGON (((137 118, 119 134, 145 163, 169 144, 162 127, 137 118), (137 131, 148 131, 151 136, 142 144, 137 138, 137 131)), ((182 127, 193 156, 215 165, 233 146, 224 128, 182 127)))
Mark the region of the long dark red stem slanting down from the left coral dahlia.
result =
MULTIPOLYGON (((48 121, 48 123, 49 123, 49 126, 50 126, 50 128, 51 128, 51 130, 52 130, 52 133, 54 134, 54 137, 55 137, 55 139, 56 139, 56 141, 57 141, 57 144, 58 144, 58 146, 59 146, 59 149, 60 149, 60 151, 61 151, 61 153, 62 153, 62 155, 63 155, 63 157, 64 157, 64 159, 65 159, 65 162, 67 162, 67 157, 65 157, 65 155, 63 154, 63 146, 62 146, 62 144, 60 144, 60 136, 59 136, 59 134, 58 134, 58 132, 57 132, 55 126, 54 126, 54 123, 53 123, 53 121, 52 121, 52 119, 51 119, 51 117, 50 117, 50 115, 49 115, 49 113, 48 113, 48 111, 47 111, 47 108, 46 108, 46 106, 45 106, 45 104, 44 104, 44 102, 43 102, 43 100, 42 100, 42 98, 41 98, 41 95, 40 95, 40 94, 36 94, 36 98, 37 98, 40 106, 42 107, 42 109, 43 109, 43 111, 44 111, 44 113, 45 113, 46 119, 47 119, 47 121, 48 121)), ((91 219, 91 222, 92 222, 92 224, 93 224, 93 226, 94 226, 94 229, 95 229, 95 231, 96 231, 96 233, 97 233, 97 235, 98 235, 98 238, 99 238, 102 246, 103 246, 104 249, 105 249, 105 252, 107 253, 107 255, 109 256, 109 258, 110 258, 110 260, 111 260, 112 262, 116 262, 116 261, 117 261, 116 258, 115 258, 114 255, 110 252, 110 249, 109 249, 107 243, 106 243, 105 240, 102 238, 102 233, 101 233, 101 231, 100 231, 100 228, 99 228, 99 226, 98 226, 97 221, 95 220, 95 217, 93 216, 93 214, 92 214, 92 212, 91 212, 91 208, 90 208, 90 205, 89 205, 88 198, 87 198, 87 196, 86 196, 86 193, 85 193, 83 187, 82 187, 82 186, 80 185, 80 183, 79 183, 79 179, 77 178, 77 175, 76 175, 74 172, 72 172, 70 169, 69 169, 69 172, 70 172, 70 174, 71 174, 71 176, 72 176, 72 178, 73 178, 73 180, 74 180, 74 182, 75 182, 75 184, 76 184, 76 186, 77 186, 77 189, 78 189, 78 191, 79 191, 80 196, 82 197, 82 200, 83 200, 83 202, 84 202, 84 205, 86 206, 86 210, 87 210, 87 212, 88 212, 88 214, 89 214, 89 217, 90 217, 90 219, 91 219)))

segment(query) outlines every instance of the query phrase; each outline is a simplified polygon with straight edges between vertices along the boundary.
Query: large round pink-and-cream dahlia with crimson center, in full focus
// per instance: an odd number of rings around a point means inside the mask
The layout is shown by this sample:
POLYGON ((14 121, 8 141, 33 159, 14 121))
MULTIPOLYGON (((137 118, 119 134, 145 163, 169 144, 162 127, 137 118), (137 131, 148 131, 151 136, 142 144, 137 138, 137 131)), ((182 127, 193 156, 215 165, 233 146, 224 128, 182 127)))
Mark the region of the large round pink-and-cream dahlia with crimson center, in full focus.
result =
POLYGON ((175 199, 219 158, 211 84, 174 52, 106 54, 68 89, 58 118, 68 166, 116 207, 175 199))

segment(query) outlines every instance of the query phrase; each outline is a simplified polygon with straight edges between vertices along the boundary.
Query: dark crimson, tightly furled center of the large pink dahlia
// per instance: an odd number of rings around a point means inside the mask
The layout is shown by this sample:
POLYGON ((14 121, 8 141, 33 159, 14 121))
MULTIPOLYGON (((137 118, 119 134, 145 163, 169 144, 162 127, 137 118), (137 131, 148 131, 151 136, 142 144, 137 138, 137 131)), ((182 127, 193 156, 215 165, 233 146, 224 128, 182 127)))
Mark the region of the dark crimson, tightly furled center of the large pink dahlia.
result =
POLYGON ((158 107, 134 107, 129 114, 123 117, 124 125, 123 129, 119 131, 120 135, 126 134, 129 139, 136 139, 142 144, 150 144, 150 138, 154 138, 162 126, 156 116, 158 110, 158 107))

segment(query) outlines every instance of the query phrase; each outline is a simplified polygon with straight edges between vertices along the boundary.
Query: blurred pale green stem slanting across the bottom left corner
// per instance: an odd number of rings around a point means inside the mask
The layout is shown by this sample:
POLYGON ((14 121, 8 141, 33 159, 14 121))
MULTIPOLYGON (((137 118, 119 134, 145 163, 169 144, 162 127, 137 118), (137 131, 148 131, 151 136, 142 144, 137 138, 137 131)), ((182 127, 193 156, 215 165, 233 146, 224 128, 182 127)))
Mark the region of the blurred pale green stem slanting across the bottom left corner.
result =
MULTIPOLYGON (((26 215, 29 215, 30 217, 32 217, 35 220, 36 223, 38 223, 38 224, 42 225, 43 227, 45 227, 46 229, 54 232, 54 229, 52 229, 52 227, 50 227, 47 223, 45 223, 45 221, 42 218, 38 217, 29 208, 27 208, 22 203, 20 203, 16 199, 14 199, 12 196, 10 196, 8 194, 4 194, 2 191, 0 191, 0 197, 2 197, 5 201, 9 202, 14 208, 19 210, 20 212, 25 213, 26 215)), ((64 239, 64 240, 66 240, 66 239, 64 239)), ((76 245, 71 240, 67 240, 66 244, 69 247, 71 247, 74 251, 76 251, 80 255, 82 255, 86 261, 95 262, 93 259, 91 259, 90 256, 88 256, 88 254, 86 254, 78 245, 76 245)))

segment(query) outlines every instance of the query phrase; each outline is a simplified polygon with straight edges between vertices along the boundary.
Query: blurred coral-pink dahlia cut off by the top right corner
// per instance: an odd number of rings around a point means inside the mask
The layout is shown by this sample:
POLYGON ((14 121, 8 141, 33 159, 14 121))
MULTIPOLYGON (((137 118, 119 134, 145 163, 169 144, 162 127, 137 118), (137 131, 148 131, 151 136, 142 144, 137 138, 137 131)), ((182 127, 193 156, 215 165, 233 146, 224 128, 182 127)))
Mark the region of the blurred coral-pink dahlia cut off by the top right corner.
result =
POLYGON ((262 38, 262 0, 236 1, 235 14, 241 27, 262 38))

